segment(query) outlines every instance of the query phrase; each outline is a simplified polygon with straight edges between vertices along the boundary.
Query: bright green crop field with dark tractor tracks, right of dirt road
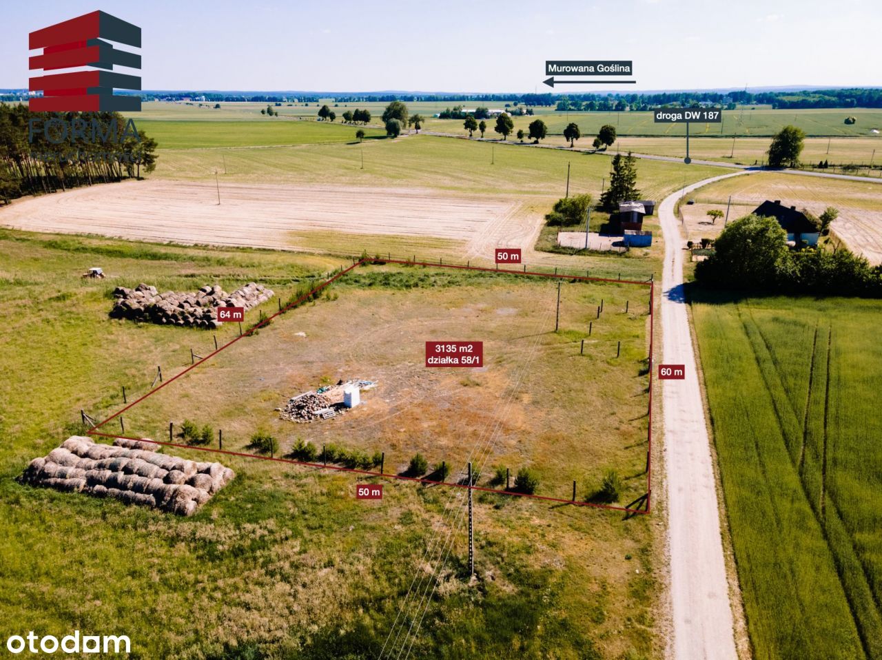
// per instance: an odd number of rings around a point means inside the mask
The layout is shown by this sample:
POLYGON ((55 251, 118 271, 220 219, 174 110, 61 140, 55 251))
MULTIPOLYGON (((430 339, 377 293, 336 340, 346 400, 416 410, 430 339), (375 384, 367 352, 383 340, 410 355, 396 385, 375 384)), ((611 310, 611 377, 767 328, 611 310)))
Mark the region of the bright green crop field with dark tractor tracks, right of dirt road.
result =
POLYGON ((882 304, 692 311, 754 657, 882 658, 882 304))

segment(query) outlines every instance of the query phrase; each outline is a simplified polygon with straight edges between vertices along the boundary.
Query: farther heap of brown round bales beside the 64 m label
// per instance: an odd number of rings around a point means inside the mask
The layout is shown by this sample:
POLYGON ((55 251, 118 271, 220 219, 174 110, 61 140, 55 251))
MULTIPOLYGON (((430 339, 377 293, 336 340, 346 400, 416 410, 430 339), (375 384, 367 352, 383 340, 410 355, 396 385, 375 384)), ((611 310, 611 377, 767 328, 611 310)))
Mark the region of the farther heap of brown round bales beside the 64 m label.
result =
POLYGON ((273 297, 273 291, 249 282, 231 294, 217 284, 206 284, 198 291, 166 291, 138 284, 134 289, 116 287, 112 319, 150 321, 163 325, 218 327, 216 307, 243 307, 249 310, 273 297))

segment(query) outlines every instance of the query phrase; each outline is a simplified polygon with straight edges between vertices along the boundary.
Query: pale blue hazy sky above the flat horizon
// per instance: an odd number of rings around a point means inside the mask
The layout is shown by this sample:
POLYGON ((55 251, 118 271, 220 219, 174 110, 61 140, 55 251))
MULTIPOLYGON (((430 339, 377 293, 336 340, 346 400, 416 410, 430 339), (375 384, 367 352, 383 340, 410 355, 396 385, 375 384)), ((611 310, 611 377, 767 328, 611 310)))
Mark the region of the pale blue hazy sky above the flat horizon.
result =
POLYGON ((27 86, 28 33, 97 9, 142 28, 144 89, 543 92, 549 59, 633 62, 564 94, 882 85, 878 0, 34 0, 0 10, 0 88, 27 86))

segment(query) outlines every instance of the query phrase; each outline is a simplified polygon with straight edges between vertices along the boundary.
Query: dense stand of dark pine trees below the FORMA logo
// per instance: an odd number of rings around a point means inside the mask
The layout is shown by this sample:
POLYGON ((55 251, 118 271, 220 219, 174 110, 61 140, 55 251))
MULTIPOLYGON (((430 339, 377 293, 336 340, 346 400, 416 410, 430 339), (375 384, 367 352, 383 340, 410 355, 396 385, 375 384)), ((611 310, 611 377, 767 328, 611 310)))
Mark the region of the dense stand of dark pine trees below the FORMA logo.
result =
POLYGON ((126 123, 118 112, 31 112, 21 103, 0 103, 0 199, 153 172, 156 141, 144 131, 127 132, 126 123), (104 139, 74 137, 66 126, 75 122, 104 139))

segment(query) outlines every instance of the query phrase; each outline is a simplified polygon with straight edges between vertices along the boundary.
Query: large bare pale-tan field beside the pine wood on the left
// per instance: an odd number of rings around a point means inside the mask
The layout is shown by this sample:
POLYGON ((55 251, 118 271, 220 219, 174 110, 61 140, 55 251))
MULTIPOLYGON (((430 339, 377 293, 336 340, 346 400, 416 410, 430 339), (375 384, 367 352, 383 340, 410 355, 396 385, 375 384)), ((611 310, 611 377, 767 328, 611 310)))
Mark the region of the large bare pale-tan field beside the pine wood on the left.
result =
MULTIPOLYGON (((466 243, 512 214, 509 199, 420 189, 125 182, 22 199, 5 226, 183 244, 293 248, 298 230, 436 236, 466 243)), ((360 249, 352 245, 350 252, 360 249)))

